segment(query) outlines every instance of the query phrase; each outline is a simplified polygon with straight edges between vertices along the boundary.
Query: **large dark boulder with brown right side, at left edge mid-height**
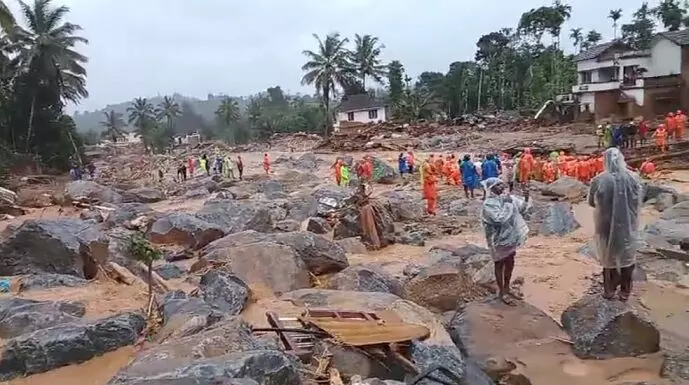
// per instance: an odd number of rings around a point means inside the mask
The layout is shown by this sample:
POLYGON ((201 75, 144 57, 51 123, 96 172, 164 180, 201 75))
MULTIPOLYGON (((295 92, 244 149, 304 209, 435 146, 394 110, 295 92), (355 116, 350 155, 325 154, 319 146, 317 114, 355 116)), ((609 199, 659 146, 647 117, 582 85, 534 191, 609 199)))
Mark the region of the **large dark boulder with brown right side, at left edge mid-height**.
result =
POLYGON ((0 275, 54 273, 91 279, 108 259, 108 238, 80 219, 27 220, 0 244, 0 275))

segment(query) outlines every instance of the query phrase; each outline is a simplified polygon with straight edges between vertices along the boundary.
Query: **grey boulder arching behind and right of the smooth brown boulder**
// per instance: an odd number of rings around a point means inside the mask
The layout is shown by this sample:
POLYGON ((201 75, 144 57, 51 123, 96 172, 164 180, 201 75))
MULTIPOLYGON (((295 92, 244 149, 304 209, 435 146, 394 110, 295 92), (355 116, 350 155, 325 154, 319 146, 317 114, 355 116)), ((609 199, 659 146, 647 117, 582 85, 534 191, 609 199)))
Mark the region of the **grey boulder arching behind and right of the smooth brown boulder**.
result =
POLYGON ((203 252, 209 260, 223 259, 227 256, 228 248, 258 242, 270 242, 290 247, 304 262, 306 268, 316 275, 335 273, 349 266, 342 246, 307 231, 276 234, 243 231, 227 235, 209 244, 203 252))

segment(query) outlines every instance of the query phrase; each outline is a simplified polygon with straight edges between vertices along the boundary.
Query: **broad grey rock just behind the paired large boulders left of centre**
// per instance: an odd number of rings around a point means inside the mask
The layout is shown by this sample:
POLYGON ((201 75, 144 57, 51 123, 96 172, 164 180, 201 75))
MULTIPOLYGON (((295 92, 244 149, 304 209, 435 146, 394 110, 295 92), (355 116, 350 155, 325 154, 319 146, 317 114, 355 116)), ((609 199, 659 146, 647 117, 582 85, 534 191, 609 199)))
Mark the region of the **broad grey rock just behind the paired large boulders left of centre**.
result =
POLYGON ((273 231, 268 208, 246 202, 211 200, 196 214, 197 217, 220 226, 226 234, 244 230, 273 231))

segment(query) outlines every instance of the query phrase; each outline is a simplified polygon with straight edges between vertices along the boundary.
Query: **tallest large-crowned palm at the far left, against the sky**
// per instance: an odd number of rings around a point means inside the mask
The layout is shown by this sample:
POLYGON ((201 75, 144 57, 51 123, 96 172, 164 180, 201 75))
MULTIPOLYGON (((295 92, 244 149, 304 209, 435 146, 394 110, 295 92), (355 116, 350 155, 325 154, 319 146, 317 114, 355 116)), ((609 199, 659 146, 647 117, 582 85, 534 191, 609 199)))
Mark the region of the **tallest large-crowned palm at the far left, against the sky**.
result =
POLYGON ((62 99, 74 103, 88 96, 84 68, 88 59, 75 50, 77 44, 86 44, 88 40, 75 35, 81 30, 79 25, 63 22, 69 8, 51 7, 50 0, 35 0, 33 6, 19 3, 27 28, 15 28, 12 38, 19 47, 19 76, 23 77, 31 99, 25 147, 28 152, 41 88, 54 85, 62 99))

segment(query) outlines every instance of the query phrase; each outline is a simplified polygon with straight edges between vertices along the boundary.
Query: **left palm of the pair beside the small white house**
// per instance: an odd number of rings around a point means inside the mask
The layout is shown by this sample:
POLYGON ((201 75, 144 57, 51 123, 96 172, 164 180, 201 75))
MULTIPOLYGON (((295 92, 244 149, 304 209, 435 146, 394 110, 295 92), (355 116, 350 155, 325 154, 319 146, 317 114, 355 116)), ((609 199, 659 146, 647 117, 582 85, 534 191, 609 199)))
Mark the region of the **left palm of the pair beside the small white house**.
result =
POLYGON ((308 61, 301 67, 302 71, 306 72, 301 83, 315 86, 321 95, 326 115, 325 135, 327 136, 332 124, 330 101, 334 96, 335 87, 351 79, 354 71, 348 60, 350 54, 345 48, 345 44, 349 41, 347 38, 340 38, 338 33, 326 36, 325 40, 321 40, 316 34, 313 37, 318 41, 318 49, 303 51, 308 61))

